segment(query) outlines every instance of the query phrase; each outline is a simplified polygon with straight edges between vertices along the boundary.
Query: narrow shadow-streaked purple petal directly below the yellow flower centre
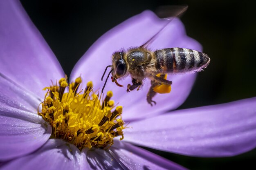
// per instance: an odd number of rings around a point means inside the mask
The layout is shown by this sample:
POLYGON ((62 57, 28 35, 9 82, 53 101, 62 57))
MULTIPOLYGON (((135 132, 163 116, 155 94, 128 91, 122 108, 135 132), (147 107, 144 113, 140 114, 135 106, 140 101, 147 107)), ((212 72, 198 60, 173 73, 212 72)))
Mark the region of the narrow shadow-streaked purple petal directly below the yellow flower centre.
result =
POLYGON ((86 168, 83 167, 82 170, 86 170, 89 167, 90 170, 128 170, 128 168, 122 167, 112 155, 102 149, 84 149, 82 151, 82 160, 87 160, 89 165, 86 165, 86 168))

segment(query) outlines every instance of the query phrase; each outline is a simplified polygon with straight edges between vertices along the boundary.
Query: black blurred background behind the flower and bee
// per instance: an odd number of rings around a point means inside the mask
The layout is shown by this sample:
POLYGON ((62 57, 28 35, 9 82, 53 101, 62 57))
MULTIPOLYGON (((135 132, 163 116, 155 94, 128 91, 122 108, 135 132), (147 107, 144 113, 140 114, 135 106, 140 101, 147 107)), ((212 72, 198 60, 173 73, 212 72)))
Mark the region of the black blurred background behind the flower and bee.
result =
MULTIPOLYGON (((186 102, 191 108, 256 96, 256 2, 236 0, 21 0, 67 75, 106 31, 146 9, 187 4, 187 34, 211 57, 186 102)), ((256 142, 256 141, 255 141, 256 142)), ((228 158, 195 158, 151 150, 191 170, 256 169, 256 150, 228 158)))

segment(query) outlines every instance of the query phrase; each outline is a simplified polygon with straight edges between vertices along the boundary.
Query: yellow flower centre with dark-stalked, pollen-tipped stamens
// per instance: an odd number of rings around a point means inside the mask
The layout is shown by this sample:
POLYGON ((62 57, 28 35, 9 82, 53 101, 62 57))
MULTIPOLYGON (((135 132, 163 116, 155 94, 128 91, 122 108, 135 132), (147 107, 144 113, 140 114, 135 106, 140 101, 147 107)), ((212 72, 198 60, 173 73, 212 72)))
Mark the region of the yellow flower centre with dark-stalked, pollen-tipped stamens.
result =
POLYGON ((95 93, 92 82, 87 83, 85 90, 78 91, 81 82, 81 77, 70 84, 67 78, 61 78, 58 84, 44 88, 47 92, 38 115, 52 126, 52 138, 68 141, 80 150, 109 148, 114 137, 124 139, 123 108, 110 100, 112 91, 106 97, 95 93))

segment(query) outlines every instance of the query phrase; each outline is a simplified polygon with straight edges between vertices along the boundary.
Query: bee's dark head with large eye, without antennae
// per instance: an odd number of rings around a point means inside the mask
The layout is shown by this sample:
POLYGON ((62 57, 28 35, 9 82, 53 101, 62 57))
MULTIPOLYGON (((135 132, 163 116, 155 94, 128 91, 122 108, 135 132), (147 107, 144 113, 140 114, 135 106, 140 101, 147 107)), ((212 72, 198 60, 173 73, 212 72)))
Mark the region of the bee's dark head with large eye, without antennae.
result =
POLYGON ((127 65, 124 61, 124 52, 115 52, 112 55, 112 76, 115 79, 123 77, 127 72, 127 65))

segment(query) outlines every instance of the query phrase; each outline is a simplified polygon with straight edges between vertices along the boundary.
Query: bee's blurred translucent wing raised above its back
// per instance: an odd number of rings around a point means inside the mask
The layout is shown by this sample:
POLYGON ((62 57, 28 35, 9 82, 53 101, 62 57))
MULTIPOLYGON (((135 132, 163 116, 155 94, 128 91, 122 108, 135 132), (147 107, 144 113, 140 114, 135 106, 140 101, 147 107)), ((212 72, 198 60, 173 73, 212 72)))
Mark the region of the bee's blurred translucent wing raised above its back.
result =
POLYGON ((150 45, 155 38, 159 35, 159 33, 173 20, 175 17, 179 17, 182 15, 188 9, 188 6, 162 6, 158 7, 156 10, 156 14, 159 18, 162 18, 163 20, 169 20, 155 35, 153 35, 152 38, 150 38, 145 44, 141 45, 140 47, 146 48, 148 45, 150 45))

